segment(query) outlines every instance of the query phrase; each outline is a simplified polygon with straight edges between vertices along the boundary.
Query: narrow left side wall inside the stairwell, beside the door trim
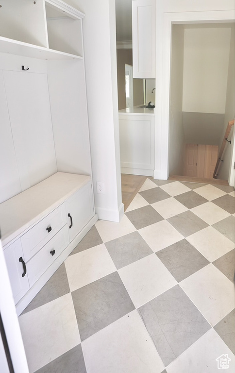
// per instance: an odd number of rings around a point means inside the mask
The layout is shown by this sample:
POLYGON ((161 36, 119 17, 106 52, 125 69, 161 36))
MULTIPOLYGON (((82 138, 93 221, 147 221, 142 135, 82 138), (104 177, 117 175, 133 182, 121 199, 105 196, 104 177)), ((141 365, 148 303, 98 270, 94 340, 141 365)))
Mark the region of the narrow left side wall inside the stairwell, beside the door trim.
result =
POLYGON ((184 71, 184 28, 172 27, 171 82, 169 114, 169 174, 182 175, 184 170, 185 134, 182 118, 184 71))

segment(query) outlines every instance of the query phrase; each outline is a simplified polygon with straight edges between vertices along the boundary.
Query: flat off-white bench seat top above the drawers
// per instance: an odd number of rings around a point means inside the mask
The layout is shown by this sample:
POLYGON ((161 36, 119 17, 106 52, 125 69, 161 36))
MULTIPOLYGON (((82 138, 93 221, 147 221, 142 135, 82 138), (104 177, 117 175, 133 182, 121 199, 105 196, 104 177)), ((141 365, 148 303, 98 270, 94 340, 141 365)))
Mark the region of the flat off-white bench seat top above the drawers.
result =
POLYGON ((56 172, 0 203, 2 244, 6 245, 84 186, 90 176, 56 172))

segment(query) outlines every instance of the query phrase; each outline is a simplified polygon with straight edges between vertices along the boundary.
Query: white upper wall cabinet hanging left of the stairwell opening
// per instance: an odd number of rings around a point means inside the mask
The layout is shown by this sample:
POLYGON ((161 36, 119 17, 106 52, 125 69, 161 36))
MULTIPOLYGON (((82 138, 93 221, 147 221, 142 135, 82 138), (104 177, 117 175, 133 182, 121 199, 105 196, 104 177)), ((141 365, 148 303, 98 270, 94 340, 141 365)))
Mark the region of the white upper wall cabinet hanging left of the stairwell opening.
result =
POLYGON ((133 78, 155 78, 155 3, 132 1, 133 78))

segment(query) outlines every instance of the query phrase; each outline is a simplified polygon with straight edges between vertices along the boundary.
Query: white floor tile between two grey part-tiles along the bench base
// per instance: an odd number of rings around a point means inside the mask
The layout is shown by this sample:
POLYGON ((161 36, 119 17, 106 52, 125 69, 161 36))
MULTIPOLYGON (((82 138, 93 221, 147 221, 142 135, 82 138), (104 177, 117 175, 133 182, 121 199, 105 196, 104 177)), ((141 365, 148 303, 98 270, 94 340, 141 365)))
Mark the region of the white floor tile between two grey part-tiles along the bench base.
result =
POLYGON ((68 256, 65 267, 70 291, 82 288, 116 271, 113 260, 103 243, 68 256))

